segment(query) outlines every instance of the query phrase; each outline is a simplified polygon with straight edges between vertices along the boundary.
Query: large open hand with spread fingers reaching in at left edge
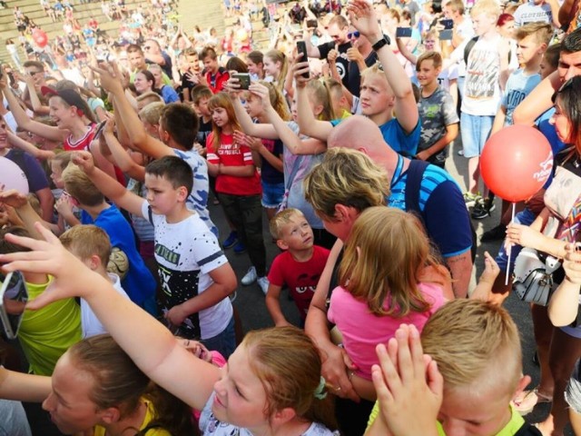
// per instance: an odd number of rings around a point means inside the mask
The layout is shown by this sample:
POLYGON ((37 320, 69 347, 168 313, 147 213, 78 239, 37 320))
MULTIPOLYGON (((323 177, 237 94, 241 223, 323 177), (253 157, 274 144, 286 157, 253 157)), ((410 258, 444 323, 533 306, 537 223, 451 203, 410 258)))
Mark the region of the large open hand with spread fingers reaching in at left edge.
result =
POLYGON ((50 230, 45 229, 41 223, 34 223, 34 229, 42 235, 44 240, 10 233, 5 235, 6 241, 28 248, 30 252, 0 254, 0 263, 5 263, 3 268, 6 272, 18 270, 54 276, 54 281, 46 288, 46 291, 32 302, 28 302, 26 308, 37 310, 51 302, 84 296, 84 291, 88 288, 83 283, 91 282, 93 278, 97 279, 99 276, 69 253, 58 238, 50 230))

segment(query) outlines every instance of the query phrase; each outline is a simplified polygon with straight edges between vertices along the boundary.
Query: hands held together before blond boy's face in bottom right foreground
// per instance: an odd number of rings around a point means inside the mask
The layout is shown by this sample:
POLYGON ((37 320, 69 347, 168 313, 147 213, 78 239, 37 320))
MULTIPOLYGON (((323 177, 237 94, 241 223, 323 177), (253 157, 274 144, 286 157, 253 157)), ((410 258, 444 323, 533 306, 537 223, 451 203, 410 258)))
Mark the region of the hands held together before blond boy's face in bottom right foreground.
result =
POLYGON ((378 419, 394 436, 436 435, 444 379, 438 365, 424 355, 419 332, 401 324, 388 348, 376 348, 379 365, 373 365, 373 385, 378 394, 378 419))

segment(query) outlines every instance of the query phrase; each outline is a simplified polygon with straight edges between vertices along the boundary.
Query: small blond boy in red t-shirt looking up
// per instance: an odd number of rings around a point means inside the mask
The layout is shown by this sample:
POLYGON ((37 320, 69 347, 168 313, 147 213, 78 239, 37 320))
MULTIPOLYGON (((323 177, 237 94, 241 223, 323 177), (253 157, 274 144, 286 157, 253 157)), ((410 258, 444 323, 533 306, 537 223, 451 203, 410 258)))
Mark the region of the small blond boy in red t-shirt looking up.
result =
POLYGON ((272 217, 270 225, 271 235, 284 253, 276 256, 271 265, 266 308, 277 327, 291 325, 281 311, 281 290, 286 284, 299 309, 300 325, 304 326, 310 300, 330 252, 313 245, 312 229, 299 209, 285 209, 277 213, 272 217))

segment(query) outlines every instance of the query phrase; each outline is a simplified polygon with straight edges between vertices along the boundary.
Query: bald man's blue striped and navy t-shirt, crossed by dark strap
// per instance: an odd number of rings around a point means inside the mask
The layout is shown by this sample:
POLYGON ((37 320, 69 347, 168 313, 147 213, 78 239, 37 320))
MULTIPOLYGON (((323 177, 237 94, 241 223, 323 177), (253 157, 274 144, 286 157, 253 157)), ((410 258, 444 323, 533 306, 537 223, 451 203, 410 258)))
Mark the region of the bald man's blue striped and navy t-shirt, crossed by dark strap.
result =
MULTIPOLYGON (((388 205, 406 210, 408 173, 402 173, 404 160, 399 157, 391 178, 388 205)), ((426 232, 444 257, 457 256, 472 247, 468 210, 458 183, 436 165, 428 165, 421 179, 419 210, 426 232)))

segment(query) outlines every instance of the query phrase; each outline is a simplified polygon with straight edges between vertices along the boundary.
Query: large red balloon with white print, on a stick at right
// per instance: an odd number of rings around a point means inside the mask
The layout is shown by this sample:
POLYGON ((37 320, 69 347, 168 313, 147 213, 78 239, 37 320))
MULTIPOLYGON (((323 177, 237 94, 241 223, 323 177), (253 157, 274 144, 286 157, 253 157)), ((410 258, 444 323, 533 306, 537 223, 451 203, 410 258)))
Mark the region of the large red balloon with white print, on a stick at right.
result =
POLYGON ((513 203, 528 200, 547 182, 553 152, 534 127, 511 125, 488 138, 480 155, 480 173, 493 193, 513 203))

